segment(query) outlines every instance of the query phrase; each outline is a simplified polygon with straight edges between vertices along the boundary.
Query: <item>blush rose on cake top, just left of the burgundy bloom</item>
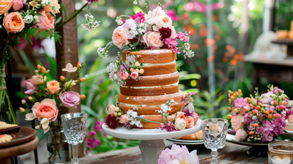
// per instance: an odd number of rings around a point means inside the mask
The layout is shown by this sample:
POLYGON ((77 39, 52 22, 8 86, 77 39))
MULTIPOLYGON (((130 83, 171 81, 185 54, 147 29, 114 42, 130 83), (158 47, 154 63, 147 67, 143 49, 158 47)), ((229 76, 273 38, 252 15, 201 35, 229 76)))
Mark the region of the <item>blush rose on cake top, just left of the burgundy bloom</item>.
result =
POLYGON ((146 32, 143 38, 144 42, 146 42, 146 46, 153 46, 155 49, 160 48, 164 44, 160 39, 161 34, 159 32, 146 32))

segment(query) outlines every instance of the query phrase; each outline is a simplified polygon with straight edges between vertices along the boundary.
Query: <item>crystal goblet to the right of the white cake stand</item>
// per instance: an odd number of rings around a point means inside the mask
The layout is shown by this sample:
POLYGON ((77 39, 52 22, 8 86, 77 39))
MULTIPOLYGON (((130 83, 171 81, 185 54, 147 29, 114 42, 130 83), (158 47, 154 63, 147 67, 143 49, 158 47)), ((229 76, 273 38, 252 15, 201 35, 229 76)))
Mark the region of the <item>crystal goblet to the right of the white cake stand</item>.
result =
POLYGON ((221 118, 209 118, 202 121, 203 142, 205 148, 211 149, 211 163, 218 163, 218 149, 224 148, 227 135, 227 120, 221 118))

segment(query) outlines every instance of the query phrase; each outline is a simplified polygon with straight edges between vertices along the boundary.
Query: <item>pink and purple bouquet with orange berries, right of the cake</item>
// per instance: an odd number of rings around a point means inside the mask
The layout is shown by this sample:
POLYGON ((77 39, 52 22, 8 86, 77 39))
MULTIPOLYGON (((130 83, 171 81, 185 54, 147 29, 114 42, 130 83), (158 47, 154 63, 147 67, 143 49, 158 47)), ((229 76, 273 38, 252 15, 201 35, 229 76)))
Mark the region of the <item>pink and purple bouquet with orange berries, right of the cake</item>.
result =
POLYGON ((243 98, 242 91, 229 90, 227 107, 231 113, 227 115, 236 141, 268 142, 280 140, 285 133, 285 119, 292 113, 289 98, 283 90, 273 85, 268 92, 243 98))

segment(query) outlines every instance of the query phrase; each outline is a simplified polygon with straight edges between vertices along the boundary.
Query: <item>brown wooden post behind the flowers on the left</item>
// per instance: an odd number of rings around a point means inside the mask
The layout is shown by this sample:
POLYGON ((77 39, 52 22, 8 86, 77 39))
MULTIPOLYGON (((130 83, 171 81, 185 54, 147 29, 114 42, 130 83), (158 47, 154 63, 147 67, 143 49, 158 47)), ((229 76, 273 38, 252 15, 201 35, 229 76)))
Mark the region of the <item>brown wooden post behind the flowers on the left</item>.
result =
MULTIPOLYGON (((66 8, 67 18, 70 18, 75 14, 75 1, 62 0, 60 3, 66 8)), ((64 21, 64 12, 60 9, 62 20, 64 21)), ((73 18, 71 21, 56 29, 60 32, 61 44, 56 43, 56 61, 58 69, 58 78, 63 75, 64 77, 72 78, 68 72, 63 72, 62 68, 65 68, 66 64, 71 63, 73 66, 77 66, 78 58, 78 39, 77 39, 77 19, 73 18)), ((72 89, 75 92, 80 93, 79 84, 75 85, 72 89)), ((67 108, 62 113, 75 113, 80 112, 80 105, 77 108, 67 108)))

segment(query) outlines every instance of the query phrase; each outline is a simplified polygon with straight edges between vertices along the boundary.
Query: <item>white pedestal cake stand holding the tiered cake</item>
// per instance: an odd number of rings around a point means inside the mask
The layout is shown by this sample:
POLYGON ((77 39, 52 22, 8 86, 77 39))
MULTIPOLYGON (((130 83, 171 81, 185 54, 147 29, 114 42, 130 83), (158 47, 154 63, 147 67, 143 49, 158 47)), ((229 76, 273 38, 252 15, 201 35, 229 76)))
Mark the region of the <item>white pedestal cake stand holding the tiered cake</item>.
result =
POLYGON ((142 161, 144 161, 144 164, 154 164, 157 163, 160 152, 165 148, 163 139, 182 137, 196 133, 201 130, 201 120, 199 119, 196 122, 196 125, 192 126, 192 128, 186 128, 183 131, 171 132, 166 131, 166 129, 160 130, 159 128, 128 129, 125 127, 118 127, 112 129, 105 125, 105 123, 102 125, 102 128, 106 135, 110 135, 112 137, 141 140, 139 147, 142 152, 142 161))

